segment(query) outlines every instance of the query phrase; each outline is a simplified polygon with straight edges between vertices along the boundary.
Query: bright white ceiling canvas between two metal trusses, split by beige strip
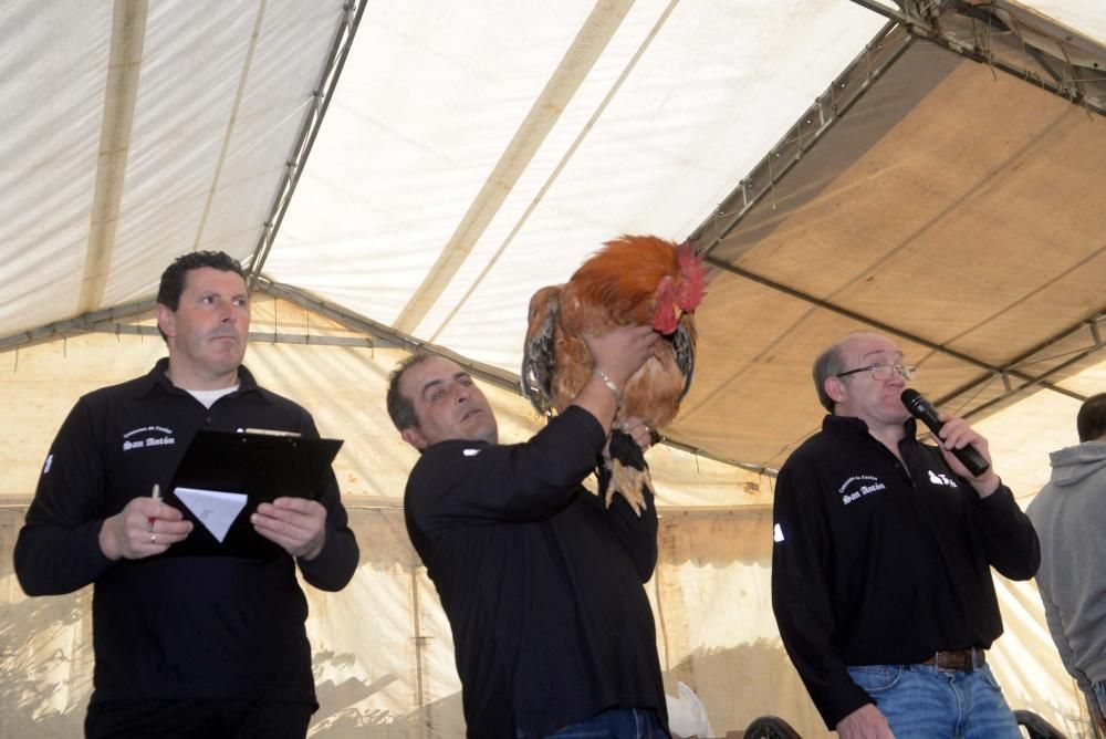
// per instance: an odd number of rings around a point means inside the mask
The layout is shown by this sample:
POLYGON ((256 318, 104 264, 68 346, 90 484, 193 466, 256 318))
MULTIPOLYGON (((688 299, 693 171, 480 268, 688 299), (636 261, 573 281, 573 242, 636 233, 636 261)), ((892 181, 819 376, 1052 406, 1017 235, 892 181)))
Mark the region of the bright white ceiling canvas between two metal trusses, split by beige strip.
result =
MULTIPOLYGON (((757 106, 769 105, 772 119, 789 119, 824 87, 826 80, 852 55, 852 44, 841 38, 835 38, 833 42, 827 40, 827 37, 834 35, 831 27, 836 13, 857 20, 847 28, 848 33, 855 32, 858 39, 867 38, 881 24, 878 17, 847 3, 832 8, 818 3, 794 3, 789 10, 793 11, 796 25, 787 33, 768 30, 768 23, 774 27, 774 20, 769 17, 748 18, 748 14, 733 10, 713 9, 705 11, 708 12, 705 19, 678 8, 664 21, 657 38, 651 40, 643 58, 632 67, 626 82, 602 110, 594 126, 585 128, 612 84, 606 81, 613 81, 618 72, 630 69, 627 66, 630 55, 639 43, 644 43, 643 35, 657 22, 664 8, 661 3, 636 3, 635 10, 596 64, 597 81, 585 82, 561 115, 543 148, 534 157, 534 171, 524 175, 514 185, 497 218, 488 226, 484 238, 473 246, 470 261, 462 266, 455 287, 447 288, 445 294, 450 298, 444 298, 442 305, 469 290, 488 263, 488 256, 497 253, 504 244, 509 244, 508 249, 444 329, 438 325, 444 313, 432 311, 432 315, 439 318, 428 315, 426 324, 420 325, 417 332, 421 337, 429 339, 424 332, 434 331, 436 343, 450 345, 471 358, 513 370, 520 358, 525 304, 536 288, 562 281, 603 240, 632 230, 630 223, 640 221, 643 217, 647 220, 638 230, 656 230, 662 236, 680 238, 681 230, 690 229, 709 210, 699 204, 720 199, 732 187, 734 168, 748 166, 742 163, 753 160, 740 147, 724 144, 729 135, 738 131, 742 138, 766 137, 765 140, 771 140, 779 135, 776 132, 782 125, 773 125, 765 118, 766 113, 753 113, 757 106), (796 34, 810 39, 810 44, 797 48, 808 49, 811 56, 804 56, 789 69, 801 67, 804 74, 782 89, 760 84, 766 80, 769 64, 774 67, 780 63, 782 45, 795 49, 792 41, 796 34), (705 44, 705 35, 718 43, 705 44), (748 39, 750 43, 743 46, 734 43, 735 39, 748 39), (695 43, 690 43, 691 40, 695 43), (763 52, 758 56, 763 61, 743 62, 745 58, 739 55, 744 53, 742 49, 763 52), (692 67, 677 69, 670 63, 674 60, 685 60, 692 67), (681 95, 691 92, 681 92, 688 81, 700 76, 705 81, 721 81, 721 90, 712 92, 717 97, 699 107, 693 106, 690 98, 688 105, 679 104, 684 100, 681 95), (739 84, 741 81, 751 82, 754 90, 760 91, 759 96, 750 97, 749 91, 739 84), (703 129, 703 126, 708 128, 703 129), (693 136, 691 132, 695 132, 693 136), (639 144, 629 152, 626 142, 632 136, 638 138, 639 144), (675 140, 670 143, 674 136, 675 140), (580 150, 565 159, 577 138, 581 139, 580 150), (708 143, 707 149, 700 150, 703 142, 708 143), (719 160, 719 157, 724 159, 719 160), (564 169, 551 179, 562 160, 565 162, 564 169), (594 164, 589 164, 592 162, 594 164), (677 163, 693 167, 693 171, 682 175, 679 187, 674 188, 671 167, 677 163), (546 181, 550 183, 549 191, 535 200, 546 181), (608 205, 597 218, 593 204, 601 195, 608 205), (534 208, 533 212, 526 215, 530 207, 534 208), (580 226, 584 229, 566 240, 564 232, 570 223, 574 225, 574 231, 580 230, 580 226), (556 258, 550 259, 550 254, 556 254, 556 258), (515 309, 507 310, 505 306, 510 305, 515 309), (505 348, 502 341, 494 341, 495 336, 502 336, 504 330, 519 337, 517 343, 508 341, 505 348)), ((359 35, 366 31, 372 33, 374 28, 390 31, 396 23, 387 17, 374 17, 374 8, 368 9, 359 35)), ((541 48, 550 33, 544 30, 545 25, 561 24, 564 30, 557 48, 563 49, 571 33, 578 29, 580 18, 568 17, 564 10, 560 12, 555 18, 535 19, 534 22, 543 24, 541 29, 531 28, 529 21, 520 21, 512 33, 528 38, 529 49, 533 51, 541 48)), ((411 19, 411 23, 417 22, 417 13, 405 11, 405 17, 411 19)), ((511 18, 510 13, 500 17, 511 18)), ((487 18, 470 14, 469 22, 479 22, 482 28, 483 24, 492 24, 493 18, 494 14, 487 18)), ((367 110, 373 102, 369 95, 379 94, 380 90, 393 92, 394 89, 394 85, 374 84, 380 72, 374 72, 373 65, 390 69, 392 64, 400 63, 397 60, 404 59, 403 53, 410 53, 409 50, 395 50, 394 44, 387 43, 388 38, 378 40, 375 35, 363 35, 358 41, 364 42, 365 39, 373 39, 374 42, 358 43, 347 64, 347 69, 361 70, 358 76, 366 84, 366 94, 358 96, 366 103, 358 105, 358 111, 367 110), (372 58, 361 55, 369 53, 372 58)), ((508 41, 514 43, 517 39, 510 37, 508 41)), ((428 43, 435 49, 435 44, 441 41, 435 35, 428 39, 428 43)), ((483 43, 482 48, 488 46, 483 43)), ((500 54, 512 49, 502 44, 494 48, 500 54)), ((474 54, 472 59, 479 62, 483 55, 474 54)), ((489 73, 486 79, 474 80, 479 85, 470 92, 473 104, 450 110, 448 106, 459 83, 459 72, 453 69, 449 69, 448 73, 439 71, 436 60, 437 55, 431 54, 429 61, 411 65, 416 76, 410 89, 398 91, 394 98, 378 103, 380 110, 389 113, 387 126, 374 125, 366 133, 364 121, 367 114, 348 118, 346 116, 355 111, 346 113, 344 108, 332 110, 328 114, 327 126, 333 125, 332 131, 341 129, 342 133, 336 137, 335 149, 330 153, 321 149, 312 156, 305 175, 310 181, 301 186, 303 192, 298 194, 299 204, 293 204, 293 212, 289 214, 282 236, 278 237, 274 254, 268 262, 268 271, 275 279, 295 273, 300 284, 341 301, 358 313, 383 321, 398 315, 406 300, 404 291, 414 290, 421 281, 422 270, 437 259, 461 218, 462 212, 455 211, 447 216, 441 209, 452 202, 469 202, 501 150, 501 147, 488 149, 489 139, 498 132, 501 137, 511 133, 511 129, 501 132, 497 127, 501 125, 498 122, 509 118, 499 108, 514 103, 521 108, 511 118, 517 123, 525 112, 522 104, 533 100, 549 75, 547 69, 531 70, 528 66, 513 75, 511 84, 500 84, 499 79, 489 73), (431 79, 436 72, 439 80, 431 79), (515 93, 515 86, 526 74, 533 75, 529 81, 531 92, 529 95, 515 93), (446 90, 428 93, 444 83, 448 85, 446 90), (417 100, 416 92, 419 93, 417 100), (514 101, 519 95, 522 97, 514 101), (413 110, 416 103, 434 107, 417 119, 410 119, 418 114, 417 110, 413 110), (499 111, 497 123, 491 127, 481 123, 489 106, 499 111), (473 118, 471 124, 467 123, 473 118), (346 124, 343 125, 343 122, 346 124), (356 133, 352 129, 355 125, 356 133), (482 136, 467 144, 467 137, 473 131, 479 131, 482 136), (398 132, 403 132, 401 137, 398 132), (435 148, 413 150, 422 139, 434 142, 435 148), (353 142, 356 142, 356 148, 352 149, 349 145, 353 142), (477 160, 477 153, 481 153, 482 162, 477 160), (335 167, 328 163, 337 162, 340 157, 343 175, 320 174, 333 170, 335 167), (434 160, 428 162, 428 158, 434 160), (438 163, 437 158, 442 158, 442 163, 438 163), (397 163, 395 170, 388 168, 393 162, 397 163), (363 201, 368 204, 367 216, 364 209, 353 207, 349 195, 333 197, 349 189, 347 184, 353 178, 368 183, 368 189, 359 187, 363 201), (379 186, 372 183, 379 183, 379 186), (313 195, 315 187, 325 191, 313 195), (469 198, 466 198, 466 192, 469 198), (321 210, 315 210, 316 206, 321 210), (309 214, 313 215, 311 228, 321 229, 314 237, 301 233, 296 226, 300 218, 307 222, 309 214), (351 222, 352 216, 357 218, 357 222, 351 222), (401 260, 395 249, 387 246, 396 242, 395 228, 399 223, 404 227, 405 244, 401 260), (335 238, 328 237, 328 233, 335 238), (296 257, 294 263, 284 261, 293 259, 293 256, 291 249, 280 247, 281 238, 291 239, 290 243, 310 243, 306 247, 309 256, 296 257), (365 256, 366 243, 380 244, 377 249, 383 251, 377 251, 375 258, 372 253, 365 256), (346 269, 331 263, 336 257, 342 259, 346 269), (355 289, 347 277, 349 268, 368 274, 371 282, 355 289)), ((343 84, 347 80, 348 76, 343 84)), ((449 305, 451 310, 452 305, 449 305)))

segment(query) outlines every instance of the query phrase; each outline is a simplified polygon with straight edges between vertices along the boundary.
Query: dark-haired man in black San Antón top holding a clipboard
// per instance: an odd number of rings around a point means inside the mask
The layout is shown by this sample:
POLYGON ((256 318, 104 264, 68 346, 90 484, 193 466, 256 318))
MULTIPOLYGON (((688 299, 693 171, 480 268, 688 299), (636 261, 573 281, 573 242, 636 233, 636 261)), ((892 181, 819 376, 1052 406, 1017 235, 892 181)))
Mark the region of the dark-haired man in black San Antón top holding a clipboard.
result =
POLYGON ((295 570, 337 591, 358 559, 330 469, 336 443, 320 451, 311 415, 242 366, 250 309, 238 261, 178 258, 157 302, 168 358, 77 402, 43 466, 15 573, 29 595, 95 586, 86 736, 304 737, 317 704, 295 570), (242 472, 267 436, 247 428, 299 439, 289 454, 315 472, 279 488, 242 472), (212 435, 229 445, 225 458, 186 456, 212 435), (197 470, 212 478, 178 479, 197 470), (177 495, 185 482, 246 497, 237 514, 222 511, 221 540, 211 509, 189 511, 177 495))

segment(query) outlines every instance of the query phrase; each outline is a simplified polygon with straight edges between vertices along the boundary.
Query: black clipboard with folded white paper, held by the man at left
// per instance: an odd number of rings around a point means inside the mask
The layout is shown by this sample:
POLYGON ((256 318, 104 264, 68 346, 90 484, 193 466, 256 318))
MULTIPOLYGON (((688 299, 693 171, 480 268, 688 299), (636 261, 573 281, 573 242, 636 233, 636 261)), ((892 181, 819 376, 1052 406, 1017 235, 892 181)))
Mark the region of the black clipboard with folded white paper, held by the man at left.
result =
POLYGON ((254 531, 250 514, 280 497, 316 498, 341 447, 341 439, 259 429, 198 431, 166 496, 192 531, 166 555, 279 555, 283 550, 254 531))

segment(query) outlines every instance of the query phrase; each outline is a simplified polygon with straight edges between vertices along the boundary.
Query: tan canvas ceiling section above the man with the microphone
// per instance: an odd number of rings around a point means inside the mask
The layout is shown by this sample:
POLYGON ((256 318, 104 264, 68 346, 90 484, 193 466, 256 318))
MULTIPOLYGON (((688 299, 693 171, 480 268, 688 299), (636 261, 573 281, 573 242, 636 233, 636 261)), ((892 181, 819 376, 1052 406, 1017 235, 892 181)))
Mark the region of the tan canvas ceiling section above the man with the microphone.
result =
MULTIPOLYGON (((916 44, 904 63, 915 63, 917 54, 916 44)), ((894 81, 891 74, 876 90, 888 81, 894 81)), ((862 115, 867 102, 865 97, 856 106, 862 115)), ((838 132, 848 137, 849 125, 845 117, 823 143, 832 146, 838 132)), ((710 348, 703 348, 703 371, 697 373, 675 428, 681 437, 727 458, 782 464, 793 443, 813 430, 811 418, 816 413, 816 406, 797 403, 784 386, 789 381, 806 385, 804 375, 808 377, 820 347, 867 327, 831 311, 813 310, 818 300, 889 324, 893 334, 947 343, 954 352, 995 367, 1099 312, 1096 279, 1103 247, 1093 233, 1102 233, 1106 223, 1100 222, 1100 209, 1086 201, 1093 196, 1083 183, 1102 171, 1103 163, 1098 154, 1078 156, 1072 147, 1085 143, 1100 125, 1018 80, 994 77, 978 64, 962 62, 835 179, 807 183, 806 175, 817 177, 834 169, 817 162, 804 168, 806 163, 801 163, 784 180, 787 191, 802 194, 813 185, 817 195, 801 209, 776 216, 760 241, 743 242, 739 228, 712 252, 774 281, 780 293, 765 296, 766 288, 751 281, 741 284, 729 275, 712 281, 698 312, 700 345, 717 347, 719 356, 727 357, 721 365, 733 379, 722 383, 712 377, 710 348), (980 121, 995 125, 1001 121, 1001 135, 980 121), (1044 163, 1056 162, 1070 163, 1063 175, 1055 166, 1045 168, 1044 163), (1057 178, 1064 184, 1042 187, 1057 178), (1000 195, 1008 200, 1016 197, 1024 207, 1008 210, 1000 195), (904 202, 910 207, 904 208, 904 202), (856 204, 863 204, 859 210, 854 210, 856 204), (1043 252, 1047 258, 1042 259, 1043 252), (810 300, 794 301, 784 292, 789 289, 806 293, 810 300), (747 310, 740 306, 741 299, 728 294, 731 290, 747 293, 747 310), (817 327, 796 334, 792 325, 800 315, 817 327), (765 335, 758 341, 733 327, 743 324, 755 325, 765 335), (804 361, 794 357, 781 366, 772 334, 781 343, 805 346, 804 361), (728 335, 737 339, 727 341, 728 335), (803 341, 814 336, 818 339, 813 343, 803 341), (759 357, 765 346, 773 347, 776 367, 761 376, 749 368, 747 357, 759 357), (743 393, 742 384, 755 392, 743 393), (776 389, 766 389, 772 387, 776 389), (722 408, 727 413, 716 415, 722 408), (759 419, 758 437, 766 434, 784 440, 783 451, 754 446, 757 438, 733 433, 740 424, 717 420, 742 417, 759 419), (766 417, 772 420, 763 421, 766 417)), ((770 208, 764 200, 751 214, 770 208)), ((909 361, 921 365, 918 382, 931 396, 969 388, 956 402, 958 409, 971 410, 1004 392, 985 366, 911 345, 906 337, 899 341, 909 361)), ((1062 381, 1063 374, 1053 379, 1062 381)))

